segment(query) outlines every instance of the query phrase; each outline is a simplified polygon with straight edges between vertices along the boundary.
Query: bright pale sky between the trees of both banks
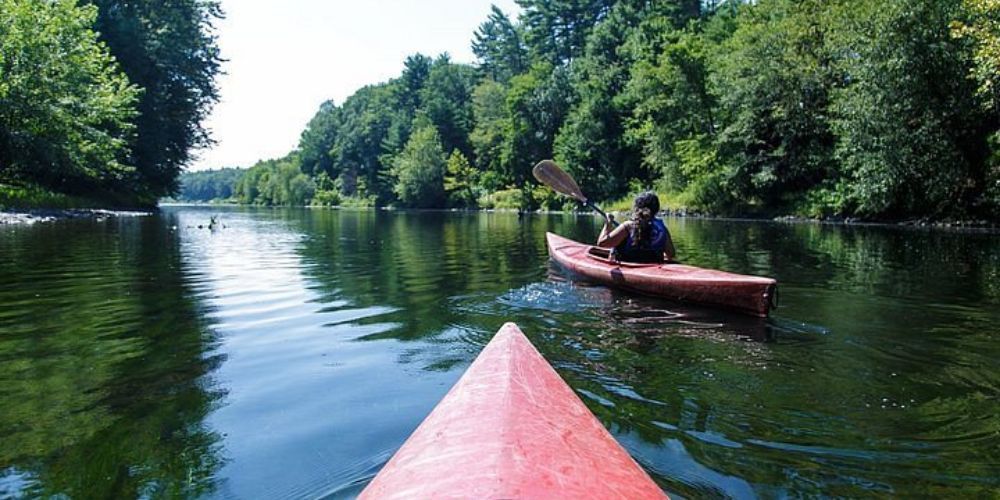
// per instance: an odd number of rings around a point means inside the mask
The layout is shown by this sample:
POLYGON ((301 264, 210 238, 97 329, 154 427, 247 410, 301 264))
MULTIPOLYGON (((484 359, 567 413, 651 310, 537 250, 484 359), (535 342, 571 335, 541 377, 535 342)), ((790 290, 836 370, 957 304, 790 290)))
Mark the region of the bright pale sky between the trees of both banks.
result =
POLYGON ((216 34, 225 74, 205 126, 217 144, 188 170, 248 167, 291 151, 324 101, 399 76, 406 56, 474 61, 490 4, 514 0, 222 0, 216 34))

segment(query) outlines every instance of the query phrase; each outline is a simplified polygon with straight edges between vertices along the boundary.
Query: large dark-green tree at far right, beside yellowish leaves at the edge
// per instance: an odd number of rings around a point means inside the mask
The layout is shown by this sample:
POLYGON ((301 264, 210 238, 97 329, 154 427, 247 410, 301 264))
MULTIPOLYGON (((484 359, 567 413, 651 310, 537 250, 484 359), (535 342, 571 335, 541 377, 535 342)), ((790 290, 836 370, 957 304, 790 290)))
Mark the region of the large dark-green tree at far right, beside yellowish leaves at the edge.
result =
POLYGON ((837 155, 866 215, 961 215, 983 189, 986 136, 959 2, 894 0, 840 11, 845 79, 833 104, 837 155))

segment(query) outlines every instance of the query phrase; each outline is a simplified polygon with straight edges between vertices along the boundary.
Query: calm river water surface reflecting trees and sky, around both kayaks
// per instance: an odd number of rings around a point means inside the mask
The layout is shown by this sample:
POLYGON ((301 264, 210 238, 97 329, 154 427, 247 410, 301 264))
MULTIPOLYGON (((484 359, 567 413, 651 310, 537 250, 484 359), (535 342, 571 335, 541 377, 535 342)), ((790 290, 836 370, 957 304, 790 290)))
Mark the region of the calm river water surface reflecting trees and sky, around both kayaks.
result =
POLYGON ((0 497, 356 495, 506 321, 671 494, 997 494, 1000 236, 668 225, 775 316, 566 281, 544 233, 592 218, 0 227, 0 497))

